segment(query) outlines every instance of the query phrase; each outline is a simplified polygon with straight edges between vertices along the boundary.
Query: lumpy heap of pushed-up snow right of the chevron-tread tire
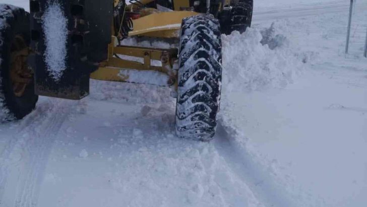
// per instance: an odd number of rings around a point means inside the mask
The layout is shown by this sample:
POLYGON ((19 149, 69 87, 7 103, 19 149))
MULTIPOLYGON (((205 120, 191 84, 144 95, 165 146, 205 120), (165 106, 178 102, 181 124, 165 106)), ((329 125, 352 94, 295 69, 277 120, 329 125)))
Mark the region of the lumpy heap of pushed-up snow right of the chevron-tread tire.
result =
POLYGON ((223 93, 284 87, 302 70, 302 60, 294 54, 284 22, 269 28, 249 28, 222 35, 223 93))

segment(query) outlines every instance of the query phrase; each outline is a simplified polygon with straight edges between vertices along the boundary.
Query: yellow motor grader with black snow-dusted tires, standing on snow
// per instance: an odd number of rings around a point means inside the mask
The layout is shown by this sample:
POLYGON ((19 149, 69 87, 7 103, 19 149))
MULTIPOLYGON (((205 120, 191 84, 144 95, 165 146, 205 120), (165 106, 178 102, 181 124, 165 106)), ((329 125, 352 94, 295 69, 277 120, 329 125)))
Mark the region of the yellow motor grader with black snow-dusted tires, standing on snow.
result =
POLYGON ((157 73, 165 77, 161 85, 177 98, 177 136, 213 138, 220 104, 221 34, 251 26, 253 0, 29 3, 29 13, 0 5, 1 121, 31 113, 38 95, 81 99, 89 94, 90 78, 146 83, 137 77, 157 73), (178 48, 121 44, 133 36, 177 39, 178 48))

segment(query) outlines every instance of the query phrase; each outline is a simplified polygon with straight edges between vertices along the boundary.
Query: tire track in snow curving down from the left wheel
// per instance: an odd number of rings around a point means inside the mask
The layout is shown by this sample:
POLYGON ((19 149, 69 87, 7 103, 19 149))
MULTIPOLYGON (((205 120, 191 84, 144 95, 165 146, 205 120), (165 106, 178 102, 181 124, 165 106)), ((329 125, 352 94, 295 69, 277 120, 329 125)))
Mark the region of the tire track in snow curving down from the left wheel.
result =
POLYGON ((36 204, 39 187, 37 183, 42 179, 48 153, 58 130, 75 104, 68 100, 52 104, 48 100, 43 107, 36 109, 34 117, 20 125, 22 130, 13 137, 16 141, 13 141, 7 150, 7 159, 11 162, 2 166, 5 179, 3 198, 6 200, 0 204, 4 206, 36 204))

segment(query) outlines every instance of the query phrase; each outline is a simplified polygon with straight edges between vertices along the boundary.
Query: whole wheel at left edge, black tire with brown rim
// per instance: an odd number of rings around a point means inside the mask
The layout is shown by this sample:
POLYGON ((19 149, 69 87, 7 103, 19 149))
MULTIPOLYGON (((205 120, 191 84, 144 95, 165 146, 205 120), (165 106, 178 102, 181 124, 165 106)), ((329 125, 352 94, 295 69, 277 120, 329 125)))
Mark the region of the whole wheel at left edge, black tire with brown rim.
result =
POLYGON ((0 121, 22 119, 35 108, 33 71, 28 67, 29 14, 0 5, 0 121))

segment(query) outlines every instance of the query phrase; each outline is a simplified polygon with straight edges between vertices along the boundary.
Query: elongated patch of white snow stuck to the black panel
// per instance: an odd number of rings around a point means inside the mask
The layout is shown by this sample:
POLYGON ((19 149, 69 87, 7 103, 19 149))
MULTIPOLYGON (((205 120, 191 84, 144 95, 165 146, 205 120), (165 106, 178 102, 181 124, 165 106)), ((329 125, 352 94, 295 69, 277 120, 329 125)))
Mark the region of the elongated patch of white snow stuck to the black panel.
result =
POLYGON ((68 20, 57 2, 48 5, 42 19, 46 42, 44 54, 46 67, 51 77, 59 81, 66 69, 68 20))

